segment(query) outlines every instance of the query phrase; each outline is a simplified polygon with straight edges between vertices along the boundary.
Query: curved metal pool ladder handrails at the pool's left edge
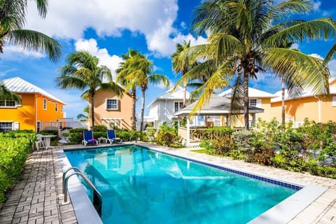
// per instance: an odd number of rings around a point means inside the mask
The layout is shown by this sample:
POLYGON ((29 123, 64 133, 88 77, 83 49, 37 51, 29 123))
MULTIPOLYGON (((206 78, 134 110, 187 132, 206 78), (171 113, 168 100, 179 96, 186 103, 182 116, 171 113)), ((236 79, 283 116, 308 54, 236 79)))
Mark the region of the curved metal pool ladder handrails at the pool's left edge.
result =
POLYGON ((83 172, 80 171, 77 167, 70 167, 69 169, 66 169, 66 171, 63 173, 62 176, 62 193, 64 195, 64 202, 68 201, 68 179, 71 176, 79 175, 86 183, 92 188, 93 190, 93 207, 96 209, 99 216, 102 216, 102 195, 99 193, 97 188, 94 187, 93 183, 85 176, 83 172), (72 174, 69 174, 69 176, 66 176, 66 174, 73 170, 72 174))

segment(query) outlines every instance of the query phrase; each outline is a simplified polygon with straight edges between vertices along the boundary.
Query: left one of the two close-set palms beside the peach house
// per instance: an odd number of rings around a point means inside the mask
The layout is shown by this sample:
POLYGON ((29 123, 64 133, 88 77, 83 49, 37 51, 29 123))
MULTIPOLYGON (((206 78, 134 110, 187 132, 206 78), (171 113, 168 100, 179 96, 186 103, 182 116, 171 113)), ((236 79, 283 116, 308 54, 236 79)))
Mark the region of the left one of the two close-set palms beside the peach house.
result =
MULTIPOLYGON (((127 85, 127 79, 126 76, 129 73, 132 73, 130 71, 130 64, 128 63, 127 59, 131 59, 135 55, 140 55, 140 53, 137 50, 129 49, 127 54, 121 55, 123 59, 125 60, 124 62, 121 62, 119 64, 118 69, 116 69, 116 73, 118 74, 116 77, 116 81, 120 83, 121 85, 126 86, 127 85)), ((132 70, 132 69, 131 69, 132 70)), ((136 112, 136 102, 137 102, 137 86, 132 86, 131 87, 132 92, 131 92, 131 97, 132 97, 132 130, 137 129, 137 112, 136 112)))

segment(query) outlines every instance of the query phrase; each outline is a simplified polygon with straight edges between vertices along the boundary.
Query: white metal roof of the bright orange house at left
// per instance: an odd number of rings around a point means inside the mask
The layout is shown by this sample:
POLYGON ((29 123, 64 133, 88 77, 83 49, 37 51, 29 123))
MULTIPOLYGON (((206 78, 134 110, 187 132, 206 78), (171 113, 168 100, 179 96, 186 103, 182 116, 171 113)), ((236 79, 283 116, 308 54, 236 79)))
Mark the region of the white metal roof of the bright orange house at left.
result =
POLYGON ((23 80, 20 77, 14 77, 14 78, 7 78, 1 80, 1 83, 6 86, 10 92, 15 93, 39 93, 42 94, 45 97, 49 97, 50 99, 55 99, 57 102, 60 102, 65 105, 62 100, 58 99, 57 97, 53 96, 52 94, 46 92, 45 90, 42 90, 40 87, 37 87, 36 85, 33 85, 31 83, 28 83, 26 80, 23 80))

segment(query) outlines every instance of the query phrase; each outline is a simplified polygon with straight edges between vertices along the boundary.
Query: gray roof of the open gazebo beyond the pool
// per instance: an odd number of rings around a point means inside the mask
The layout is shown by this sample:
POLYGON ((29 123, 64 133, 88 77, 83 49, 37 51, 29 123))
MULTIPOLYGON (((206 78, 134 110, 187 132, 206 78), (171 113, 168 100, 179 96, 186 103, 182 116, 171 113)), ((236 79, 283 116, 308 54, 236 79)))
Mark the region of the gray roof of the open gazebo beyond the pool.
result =
MULTIPOLYGON (((193 104, 186 106, 186 108, 181 109, 180 111, 177 111, 176 113, 174 113, 174 116, 188 115, 193 110, 196 104, 197 102, 194 102, 193 104)), ((196 113, 197 115, 221 116, 221 115, 230 113, 230 106, 231 106, 230 99, 213 94, 209 102, 207 104, 204 104, 202 109, 200 111, 196 111, 196 113)), ((249 106, 248 110, 249 110, 249 113, 263 113, 264 112, 264 109, 261 109, 255 106, 249 106)), ((243 106, 241 106, 239 108, 239 111, 235 113, 244 113, 243 106)))

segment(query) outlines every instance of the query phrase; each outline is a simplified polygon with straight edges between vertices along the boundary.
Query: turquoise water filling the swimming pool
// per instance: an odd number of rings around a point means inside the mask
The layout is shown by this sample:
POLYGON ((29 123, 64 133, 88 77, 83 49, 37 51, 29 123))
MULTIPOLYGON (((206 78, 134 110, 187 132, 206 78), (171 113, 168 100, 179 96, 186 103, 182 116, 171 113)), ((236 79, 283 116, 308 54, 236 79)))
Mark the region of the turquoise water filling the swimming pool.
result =
POLYGON ((247 223, 297 191, 139 146, 65 154, 102 193, 106 224, 247 223))

